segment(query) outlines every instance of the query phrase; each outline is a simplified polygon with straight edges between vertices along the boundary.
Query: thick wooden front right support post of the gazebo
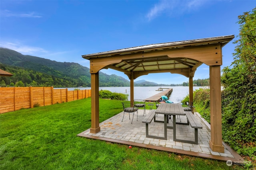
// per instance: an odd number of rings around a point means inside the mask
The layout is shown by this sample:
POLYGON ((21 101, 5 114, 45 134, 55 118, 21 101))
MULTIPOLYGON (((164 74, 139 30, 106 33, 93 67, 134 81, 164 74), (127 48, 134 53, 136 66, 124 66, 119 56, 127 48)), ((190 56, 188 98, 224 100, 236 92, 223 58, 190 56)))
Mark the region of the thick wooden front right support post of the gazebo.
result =
POLYGON ((222 119, 221 119, 221 84, 220 66, 210 66, 210 147, 214 152, 223 152, 222 119))

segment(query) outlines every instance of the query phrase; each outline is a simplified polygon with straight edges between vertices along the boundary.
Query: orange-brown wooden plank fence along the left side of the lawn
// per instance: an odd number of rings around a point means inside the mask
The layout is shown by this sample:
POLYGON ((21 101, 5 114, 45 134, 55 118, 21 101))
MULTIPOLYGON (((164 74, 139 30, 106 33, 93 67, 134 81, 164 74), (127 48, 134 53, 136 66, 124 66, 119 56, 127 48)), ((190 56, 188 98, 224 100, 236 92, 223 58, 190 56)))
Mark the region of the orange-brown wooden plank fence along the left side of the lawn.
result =
POLYGON ((0 88, 0 113, 47 106, 91 97, 91 90, 53 89, 53 87, 0 88))

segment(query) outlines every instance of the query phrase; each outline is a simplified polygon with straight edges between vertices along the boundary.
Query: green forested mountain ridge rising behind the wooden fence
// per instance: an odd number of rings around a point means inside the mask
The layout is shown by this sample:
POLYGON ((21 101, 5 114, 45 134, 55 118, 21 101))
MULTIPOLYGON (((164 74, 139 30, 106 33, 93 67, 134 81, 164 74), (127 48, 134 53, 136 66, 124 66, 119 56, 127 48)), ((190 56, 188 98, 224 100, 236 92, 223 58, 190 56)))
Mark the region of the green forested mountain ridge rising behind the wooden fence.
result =
MULTIPOLYGON (((90 87, 90 69, 78 63, 57 62, 14 50, 0 48, 1 69, 14 76, 1 77, 1 84, 13 85, 22 81, 24 86, 90 87)), ((130 82, 115 74, 99 72, 100 86, 130 86, 130 82)))

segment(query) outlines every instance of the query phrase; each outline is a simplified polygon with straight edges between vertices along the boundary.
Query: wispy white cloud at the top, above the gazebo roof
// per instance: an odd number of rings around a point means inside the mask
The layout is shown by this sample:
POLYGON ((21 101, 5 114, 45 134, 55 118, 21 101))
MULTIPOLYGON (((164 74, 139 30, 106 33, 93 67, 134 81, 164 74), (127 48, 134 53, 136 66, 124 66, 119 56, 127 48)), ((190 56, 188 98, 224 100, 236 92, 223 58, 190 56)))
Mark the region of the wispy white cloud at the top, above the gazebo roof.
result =
POLYGON ((161 0, 158 4, 155 4, 154 7, 149 10, 149 12, 146 14, 146 18, 148 21, 151 21, 163 13, 168 16, 182 15, 184 13, 190 12, 191 10, 197 10, 206 2, 207 1, 202 0, 161 0))

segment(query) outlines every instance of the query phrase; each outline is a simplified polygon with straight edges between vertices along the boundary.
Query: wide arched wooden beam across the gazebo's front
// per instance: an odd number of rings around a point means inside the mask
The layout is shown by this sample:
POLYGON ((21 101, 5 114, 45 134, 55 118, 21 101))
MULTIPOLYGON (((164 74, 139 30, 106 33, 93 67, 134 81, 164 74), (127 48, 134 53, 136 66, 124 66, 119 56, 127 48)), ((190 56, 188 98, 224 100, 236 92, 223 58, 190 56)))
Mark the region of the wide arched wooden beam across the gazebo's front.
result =
MULTIPOLYGON (((200 45, 193 47, 182 47, 176 49, 164 49, 161 51, 148 51, 145 53, 131 53, 126 55, 106 56, 90 59, 90 73, 95 73, 110 64, 129 60, 144 60, 152 57, 168 56, 169 58, 188 58, 200 61, 207 65, 222 65, 221 45, 200 45)), ((143 61, 142 61, 143 62, 143 61)), ((129 63, 129 62, 128 62, 129 63)))

